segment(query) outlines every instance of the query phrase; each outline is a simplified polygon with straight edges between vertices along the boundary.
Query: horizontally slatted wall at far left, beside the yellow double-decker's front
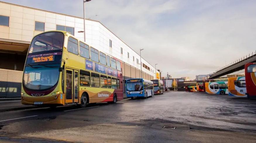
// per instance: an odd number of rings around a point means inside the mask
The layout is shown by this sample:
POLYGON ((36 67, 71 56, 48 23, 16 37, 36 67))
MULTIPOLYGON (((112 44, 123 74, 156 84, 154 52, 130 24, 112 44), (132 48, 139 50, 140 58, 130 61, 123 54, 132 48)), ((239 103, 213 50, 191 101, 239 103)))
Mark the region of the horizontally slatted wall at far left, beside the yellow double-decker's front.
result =
POLYGON ((0 98, 20 97, 23 71, 0 69, 0 98))

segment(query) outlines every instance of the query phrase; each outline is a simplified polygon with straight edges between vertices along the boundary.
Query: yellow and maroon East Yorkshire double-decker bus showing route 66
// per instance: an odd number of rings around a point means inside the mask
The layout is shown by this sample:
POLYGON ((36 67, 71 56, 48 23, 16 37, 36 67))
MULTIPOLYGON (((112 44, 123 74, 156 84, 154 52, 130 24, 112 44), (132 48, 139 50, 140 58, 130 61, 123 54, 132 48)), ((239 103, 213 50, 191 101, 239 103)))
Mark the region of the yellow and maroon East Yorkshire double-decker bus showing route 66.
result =
POLYGON ((121 61, 66 31, 47 31, 30 44, 23 74, 25 105, 76 105, 123 99, 121 61))

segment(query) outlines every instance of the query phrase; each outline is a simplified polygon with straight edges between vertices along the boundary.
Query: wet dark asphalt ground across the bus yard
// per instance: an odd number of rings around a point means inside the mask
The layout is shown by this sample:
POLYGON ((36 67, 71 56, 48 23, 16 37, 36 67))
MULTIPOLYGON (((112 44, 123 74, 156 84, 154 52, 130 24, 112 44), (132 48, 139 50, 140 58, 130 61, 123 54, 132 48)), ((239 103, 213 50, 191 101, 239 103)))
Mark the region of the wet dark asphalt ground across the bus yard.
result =
POLYGON ((172 91, 83 109, 0 112, 0 142, 255 142, 255 120, 256 100, 172 91))

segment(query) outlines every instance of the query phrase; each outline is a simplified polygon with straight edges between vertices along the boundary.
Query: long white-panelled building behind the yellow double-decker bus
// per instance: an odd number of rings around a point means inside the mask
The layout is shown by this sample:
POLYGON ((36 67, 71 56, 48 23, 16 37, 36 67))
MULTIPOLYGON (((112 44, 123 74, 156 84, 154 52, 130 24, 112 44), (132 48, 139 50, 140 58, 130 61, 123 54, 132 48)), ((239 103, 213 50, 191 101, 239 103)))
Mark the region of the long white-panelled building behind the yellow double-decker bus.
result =
MULTIPOLYGON (((36 34, 50 30, 69 31, 84 40, 84 33, 78 33, 84 31, 81 17, 0 2, 0 98, 20 96, 30 41, 36 34)), ((141 77, 140 55, 102 23, 86 19, 85 33, 87 44, 123 61, 125 79, 141 77)), ((145 59, 142 58, 141 62, 143 78, 156 79, 155 72, 157 75, 159 72, 145 59)))

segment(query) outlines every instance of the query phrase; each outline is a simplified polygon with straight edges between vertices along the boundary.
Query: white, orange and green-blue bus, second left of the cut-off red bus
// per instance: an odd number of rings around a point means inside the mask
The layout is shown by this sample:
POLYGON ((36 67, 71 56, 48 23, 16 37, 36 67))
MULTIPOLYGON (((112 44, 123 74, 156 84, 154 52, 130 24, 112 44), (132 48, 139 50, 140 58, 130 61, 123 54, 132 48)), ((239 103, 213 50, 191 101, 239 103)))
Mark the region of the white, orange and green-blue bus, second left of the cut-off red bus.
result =
POLYGON ((228 94, 228 79, 214 79, 205 82, 205 92, 209 94, 228 94))

